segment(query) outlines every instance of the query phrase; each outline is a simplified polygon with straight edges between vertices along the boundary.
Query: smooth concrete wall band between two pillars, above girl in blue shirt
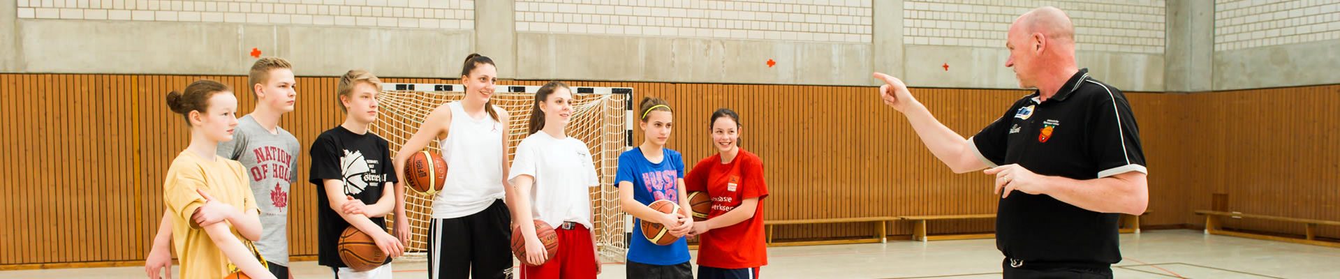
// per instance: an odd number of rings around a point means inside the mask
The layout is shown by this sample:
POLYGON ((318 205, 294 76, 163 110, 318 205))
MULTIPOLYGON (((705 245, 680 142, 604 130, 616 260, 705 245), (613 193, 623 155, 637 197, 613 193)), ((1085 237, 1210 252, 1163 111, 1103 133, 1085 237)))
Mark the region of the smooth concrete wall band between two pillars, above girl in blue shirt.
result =
POLYGON ((872 85, 871 44, 541 32, 516 38, 517 60, 524 62, 519 79, 872 85))

